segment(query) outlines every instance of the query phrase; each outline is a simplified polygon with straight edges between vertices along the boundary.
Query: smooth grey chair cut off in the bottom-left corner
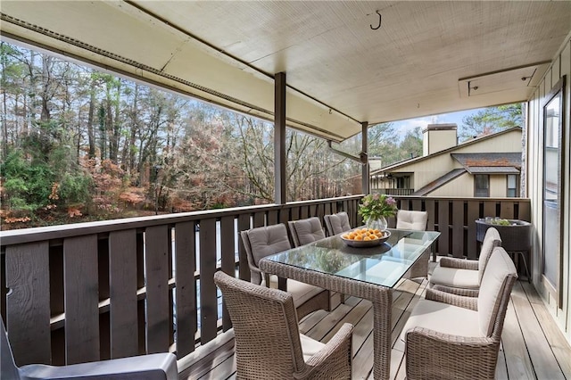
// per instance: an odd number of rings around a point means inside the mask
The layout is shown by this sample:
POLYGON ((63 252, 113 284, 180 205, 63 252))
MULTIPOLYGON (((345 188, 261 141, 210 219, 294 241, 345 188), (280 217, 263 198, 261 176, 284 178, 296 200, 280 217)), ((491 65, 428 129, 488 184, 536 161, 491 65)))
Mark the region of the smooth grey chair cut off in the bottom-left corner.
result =
POLYGON ((175 380, 178 379, 177 357, 164 352, 69 366, 29 364, 17 367, 0 318, 0 379, 175 380))

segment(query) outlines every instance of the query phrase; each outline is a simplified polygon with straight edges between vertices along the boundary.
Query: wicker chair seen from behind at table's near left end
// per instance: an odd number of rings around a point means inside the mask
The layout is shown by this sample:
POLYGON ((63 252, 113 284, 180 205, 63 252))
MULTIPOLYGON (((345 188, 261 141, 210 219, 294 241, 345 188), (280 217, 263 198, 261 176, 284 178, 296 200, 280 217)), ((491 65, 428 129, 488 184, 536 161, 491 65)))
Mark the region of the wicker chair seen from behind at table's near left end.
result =
POLYGON ((301 335, 290 293, 214 275, 235 334, 237 379, 349 379, 349 323, 327 344, 301 335))

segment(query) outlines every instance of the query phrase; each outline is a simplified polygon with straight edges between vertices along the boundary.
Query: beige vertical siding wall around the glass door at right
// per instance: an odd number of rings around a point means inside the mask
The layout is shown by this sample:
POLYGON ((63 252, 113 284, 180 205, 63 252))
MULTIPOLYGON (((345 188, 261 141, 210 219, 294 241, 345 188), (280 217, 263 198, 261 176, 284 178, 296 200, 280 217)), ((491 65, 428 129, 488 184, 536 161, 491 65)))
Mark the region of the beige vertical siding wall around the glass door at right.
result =
POLYGON ((534 243, 533 252, 533 277, 534 285, 538 292, 542 294, 543 300, 548 305, 553 317, 559 324, 559 327, 564 331, 567 340, 571 342, 571 304, 569 297, 571 293, 571 285, 569 283, 569 274, 571 273, 571 264, 569 260, 569 247, 571 245, 571 225, 569 216, 571 214, 571 194, 569 191, 569 181, 571 179, 569 152, 571 151, 571 144, 569 137, 571 131, 569 123, 571 121, 571 41, 563 46, 560 54, 553 58, 553 63, 542 79, 539 87, 535 91, 532 98, 528 103, 528 127, 527 127, 527 191, 528 196, 532 201, 532 221, 536 227, 536 239, 534 243), (562 199, 565 204, 563 206, 564 216, 562 219, 564 234, 561 236, 563 239, 563 283, 561 284, 561 292, 563 294, 562 307, 559 309, 557 300, 554 300, 550 293, 541 282, 542 275, 542 172, 543 172, 543 159, 542 159, 542 144, 543 144, 543 118, 542 118, 542 105, 546 101, 546 95, 550 93, 551 88, 559 81, 559 78, 567 76, 566 90, 565 90, 565 103, 563 106, 563 114, 565 124, 563 126, 566 135, 565 141, 562 146, 562 151, 566 154, 563 161, 563 170, 566 173, 566 180, 563 184, 562 199))

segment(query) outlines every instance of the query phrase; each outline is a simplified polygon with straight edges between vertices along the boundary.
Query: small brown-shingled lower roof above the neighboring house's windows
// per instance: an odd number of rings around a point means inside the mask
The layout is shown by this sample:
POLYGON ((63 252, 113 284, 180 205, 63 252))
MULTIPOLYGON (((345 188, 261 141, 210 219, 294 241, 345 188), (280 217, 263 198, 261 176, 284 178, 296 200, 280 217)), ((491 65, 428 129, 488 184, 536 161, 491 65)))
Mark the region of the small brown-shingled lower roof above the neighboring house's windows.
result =
POLYGON ((521 153, 451 153, 470 174, 518 174, 521 153))

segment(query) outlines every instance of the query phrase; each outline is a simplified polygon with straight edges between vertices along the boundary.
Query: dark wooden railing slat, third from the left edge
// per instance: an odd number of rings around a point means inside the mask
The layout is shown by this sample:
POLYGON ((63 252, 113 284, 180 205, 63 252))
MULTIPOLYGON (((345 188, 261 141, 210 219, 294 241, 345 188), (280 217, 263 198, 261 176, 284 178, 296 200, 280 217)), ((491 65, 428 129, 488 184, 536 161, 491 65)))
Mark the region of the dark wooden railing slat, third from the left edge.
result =
POLYGON ((109 234, 111 358, 138 353, 137 231, 109 234))

